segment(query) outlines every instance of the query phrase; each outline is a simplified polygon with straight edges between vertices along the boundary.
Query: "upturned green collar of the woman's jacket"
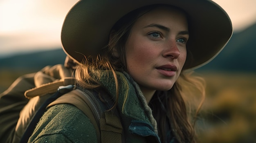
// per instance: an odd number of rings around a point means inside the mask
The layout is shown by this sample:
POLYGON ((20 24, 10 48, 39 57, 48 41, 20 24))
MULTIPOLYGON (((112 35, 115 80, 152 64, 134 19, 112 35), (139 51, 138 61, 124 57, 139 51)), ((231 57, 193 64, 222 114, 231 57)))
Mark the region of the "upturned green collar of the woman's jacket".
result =
MULTIPOLYGON (((153 117, 152 110, 148 106, 139 85, 128 73, 116 72, 116 75, 118 81, 119 110, 122 114, 131 119, 150 123, 157 134, 157 122, 153 117)), ((116 97, 115 78, 111 71, 103 71, 99 82, 108 90, 113 98, 116 97)))

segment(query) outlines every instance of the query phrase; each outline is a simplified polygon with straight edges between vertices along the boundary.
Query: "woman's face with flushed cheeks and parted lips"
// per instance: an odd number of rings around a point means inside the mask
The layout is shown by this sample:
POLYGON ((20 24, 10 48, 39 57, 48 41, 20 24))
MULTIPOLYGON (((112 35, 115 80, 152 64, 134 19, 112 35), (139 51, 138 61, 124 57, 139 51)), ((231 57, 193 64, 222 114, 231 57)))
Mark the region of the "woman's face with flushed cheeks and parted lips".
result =
POLYGON ((157 7, 138 18, 125 51, 128 73, 142 92, 173 87, 186 61, 188 39, 186 16, 177 9, 157 7))

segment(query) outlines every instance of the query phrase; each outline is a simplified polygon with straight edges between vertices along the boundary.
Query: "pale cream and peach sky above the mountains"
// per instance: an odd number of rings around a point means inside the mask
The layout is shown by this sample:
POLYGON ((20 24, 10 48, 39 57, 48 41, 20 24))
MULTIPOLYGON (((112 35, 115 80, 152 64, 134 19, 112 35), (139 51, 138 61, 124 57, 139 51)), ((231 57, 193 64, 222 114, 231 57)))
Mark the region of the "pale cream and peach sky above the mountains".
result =
MULTIPOLYGON (((256 23, 256 0, 213 0, 234 31, 256 23)), ((65 15, 77 0, 0 0, 0 57, 61 47, 65 15)))

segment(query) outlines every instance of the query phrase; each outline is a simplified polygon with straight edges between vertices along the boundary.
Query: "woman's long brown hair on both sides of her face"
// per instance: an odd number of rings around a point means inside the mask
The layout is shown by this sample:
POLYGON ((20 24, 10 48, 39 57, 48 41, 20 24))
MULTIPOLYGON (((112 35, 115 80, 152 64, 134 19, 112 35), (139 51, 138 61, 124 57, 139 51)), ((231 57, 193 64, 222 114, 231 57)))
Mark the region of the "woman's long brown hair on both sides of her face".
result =
MULTIPOLYGON (((102 49, 104 55, 98 55, 97 59, 85 59, 83 64, 76 67, 76 83, 84 88, 97 88, 101 86, 97 81, 100 77, 100 75, 97 75, 99 73, 97 71, 109 70, 113 73, 117 94, 115 104, 110 110, 117 106, 118 99, 117 87, 119 83, 115 72, 127 71, 124 45, 128 39, 130 30, 137 18, 155 7, 157 5, 135 10, 121 18, 112 28, 109 44, 102 49), (119 57, 112 55, 114 49, 117 50, 119 57)), ((153 116, 157 121, 159 137, 162 142, 168 140, 166 132, 171 131, 170 134, 174 134, 180 143, 195 143, 194 123, 192 124, 191 121, 195 119, 202 102, 197 109, 190 106, 193 104, 191 102, 192 95, 189 95, 189 97, 186 96, 186 93, 190 92, 185 92, 185 90, 196 88, 201 92, 200 95, 204 97, 203 86, 204 84, 202 84, 200 78, 193 78, 191 75, 182 71, 171 90, 155 92, 155 95, 149 102, 149 106, 152 108, 153 116), (191 111, 195 111, 193 115, 191 111), (190 117, 193 117, 192 120, 190 117)))

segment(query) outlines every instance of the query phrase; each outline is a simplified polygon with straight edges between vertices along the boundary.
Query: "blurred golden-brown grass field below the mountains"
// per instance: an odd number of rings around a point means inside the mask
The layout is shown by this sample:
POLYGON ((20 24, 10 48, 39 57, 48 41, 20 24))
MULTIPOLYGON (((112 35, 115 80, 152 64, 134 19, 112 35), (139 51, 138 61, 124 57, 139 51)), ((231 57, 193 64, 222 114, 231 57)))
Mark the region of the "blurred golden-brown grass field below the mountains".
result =
MULTIPOLYGON (((0 71, 0 92, 30 71, 0 71)), ((256 143, 256 74, 200 73, 206 85, 199 141, 256 143)))

